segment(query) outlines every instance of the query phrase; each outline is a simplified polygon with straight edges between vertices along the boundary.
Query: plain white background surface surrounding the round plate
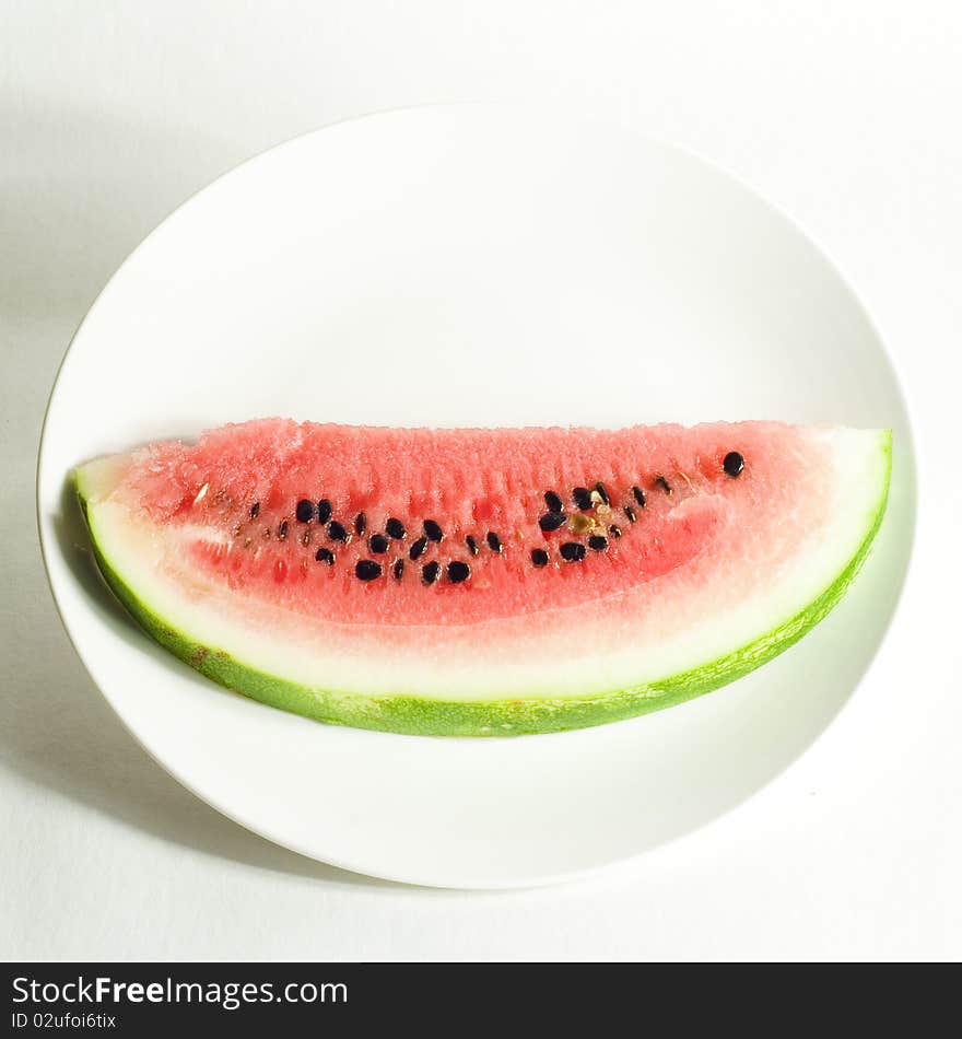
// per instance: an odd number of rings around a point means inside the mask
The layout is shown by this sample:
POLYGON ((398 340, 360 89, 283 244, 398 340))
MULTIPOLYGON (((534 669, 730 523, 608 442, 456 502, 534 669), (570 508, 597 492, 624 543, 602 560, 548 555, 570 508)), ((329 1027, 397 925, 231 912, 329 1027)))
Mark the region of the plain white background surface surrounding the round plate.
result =
POLYGON ((962 955, 960 109, 950 2, 0 2, 0 955, 962 955), (33 483, 70 335, 187 195, 325 122, 491 97, 613 116, 799 219, 891 347, 922 490, 890 637, 786 774, 589 880, 464 894, 300 859, 154 766, 60 629, 33 483))

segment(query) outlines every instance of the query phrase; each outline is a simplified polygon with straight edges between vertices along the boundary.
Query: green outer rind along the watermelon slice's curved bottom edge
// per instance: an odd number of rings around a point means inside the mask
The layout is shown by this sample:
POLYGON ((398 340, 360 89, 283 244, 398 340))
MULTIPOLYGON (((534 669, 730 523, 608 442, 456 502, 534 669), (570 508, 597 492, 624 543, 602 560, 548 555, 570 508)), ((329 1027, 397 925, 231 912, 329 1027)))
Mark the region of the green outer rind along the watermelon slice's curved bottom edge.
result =
POLYGON ((869 553, 885 512, 891 444, 891 432, 881 433, 879 446, 884 455, 884 479, 861 544, 835 580, 802 610, 748 645, 690 670, 625 689, 556 699, 361 696, 298 685, 250 667, 222 650, 198 643, 138 597, 110 564, 97 538, 96 523, 90 515, 79 474, 75 483, 97 565, 114 594, 151 638, 219 685, 270 707, 331 725, 420 736, 521 736, 586 728, 673 707, 741 678, 798 642, 838 603, 869 553))

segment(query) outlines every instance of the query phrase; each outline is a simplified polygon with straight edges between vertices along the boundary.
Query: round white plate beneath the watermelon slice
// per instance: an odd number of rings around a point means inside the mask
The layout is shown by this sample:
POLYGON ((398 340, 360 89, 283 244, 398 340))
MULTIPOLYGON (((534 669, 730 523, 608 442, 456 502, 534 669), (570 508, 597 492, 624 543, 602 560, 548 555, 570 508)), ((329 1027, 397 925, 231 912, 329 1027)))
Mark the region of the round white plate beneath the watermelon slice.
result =
POLYGON ((858 682, 906 565, 914 477, 879 337, 789 222, 691 155, 556 113, 419 108, 246 163, 127 260, 57 380, 38 476, 63 621, 104 696, 244 826, 379 877, 572 876, 715 818, 802 751, 858 682), (96 580, 67 485, 102 452, 254 416, 892 427, 881 542, 842 606, 683 707, 507 740, 333 728, 227 692, 96 580))

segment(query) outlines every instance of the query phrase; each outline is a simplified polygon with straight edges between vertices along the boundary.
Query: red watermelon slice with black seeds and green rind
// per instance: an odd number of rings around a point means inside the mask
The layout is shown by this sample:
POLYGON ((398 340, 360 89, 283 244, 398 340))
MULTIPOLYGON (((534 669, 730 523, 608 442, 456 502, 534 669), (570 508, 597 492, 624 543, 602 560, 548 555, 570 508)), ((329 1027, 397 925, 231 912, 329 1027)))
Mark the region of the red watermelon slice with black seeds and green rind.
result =
POLYGON ((97 564, 157 642, 324 722, 515 735, 744 675, 843 595, 891 434, 777 422, 266 419, 82 465, 97 564))

